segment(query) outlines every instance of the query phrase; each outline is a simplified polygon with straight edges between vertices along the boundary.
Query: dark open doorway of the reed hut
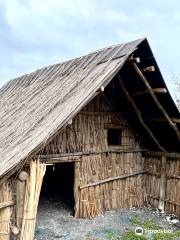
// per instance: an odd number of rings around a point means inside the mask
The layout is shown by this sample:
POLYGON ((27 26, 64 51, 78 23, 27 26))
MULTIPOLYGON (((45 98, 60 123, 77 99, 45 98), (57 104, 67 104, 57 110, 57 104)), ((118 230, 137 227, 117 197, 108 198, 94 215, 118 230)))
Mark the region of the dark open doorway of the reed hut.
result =
POLYGON ((52 212, 74 215, 74 163, 47 165, 38 210, 44 217, 52 212))

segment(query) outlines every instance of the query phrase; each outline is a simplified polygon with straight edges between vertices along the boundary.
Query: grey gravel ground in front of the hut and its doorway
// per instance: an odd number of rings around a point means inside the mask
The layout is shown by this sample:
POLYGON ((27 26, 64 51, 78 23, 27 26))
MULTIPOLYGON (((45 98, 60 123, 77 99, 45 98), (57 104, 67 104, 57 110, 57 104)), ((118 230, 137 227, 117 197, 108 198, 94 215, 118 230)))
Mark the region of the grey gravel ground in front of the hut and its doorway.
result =
POLYGON ((55 199, 41 199, 36 224, 37 240, 90 240, 110 239, 111 232, 123 234, 129 229, 134 230, 131 219, 138 217, 142 222, 153 221, 161 229, 175 230, 177 226, 167 220, 167 215, 159 214, 155 209, 132 208, 107 211, 94 219, 75 219, 68 203, 55 199))

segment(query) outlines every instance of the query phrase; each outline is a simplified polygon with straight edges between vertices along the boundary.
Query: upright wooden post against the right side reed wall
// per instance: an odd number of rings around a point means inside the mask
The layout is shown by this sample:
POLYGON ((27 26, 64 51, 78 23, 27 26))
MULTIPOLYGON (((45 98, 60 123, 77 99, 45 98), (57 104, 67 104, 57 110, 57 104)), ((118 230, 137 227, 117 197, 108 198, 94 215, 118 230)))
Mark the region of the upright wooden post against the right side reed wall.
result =
POLYGON ((161 158, 161 178, 159 185, 159 210, 164 212, 165 207, 165 194, 166 194, 166 157, 161 158))

